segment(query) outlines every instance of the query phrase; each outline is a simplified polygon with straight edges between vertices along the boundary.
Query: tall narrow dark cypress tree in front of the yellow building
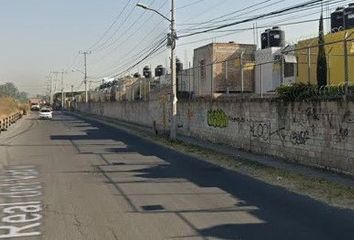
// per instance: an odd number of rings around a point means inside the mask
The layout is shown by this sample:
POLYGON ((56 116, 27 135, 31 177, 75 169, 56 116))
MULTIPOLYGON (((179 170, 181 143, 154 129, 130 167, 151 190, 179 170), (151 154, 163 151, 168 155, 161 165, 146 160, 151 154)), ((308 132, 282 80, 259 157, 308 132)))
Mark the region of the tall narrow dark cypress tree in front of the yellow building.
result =
POLYGON ((320 29, 318 36, 317 85, 319 88, 327 85, 327 58, 323 29, 323 12, 320 17, 320 29))

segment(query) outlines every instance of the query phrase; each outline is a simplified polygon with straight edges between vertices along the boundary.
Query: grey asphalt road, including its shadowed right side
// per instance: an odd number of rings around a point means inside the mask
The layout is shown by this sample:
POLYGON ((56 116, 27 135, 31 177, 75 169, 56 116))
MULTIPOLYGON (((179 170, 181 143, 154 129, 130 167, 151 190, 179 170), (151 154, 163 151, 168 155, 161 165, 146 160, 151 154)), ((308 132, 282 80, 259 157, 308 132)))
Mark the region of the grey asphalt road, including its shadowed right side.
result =
POLYGON ((0 135, 0 239, 354 239, 354 212, 72 116, 0 135))

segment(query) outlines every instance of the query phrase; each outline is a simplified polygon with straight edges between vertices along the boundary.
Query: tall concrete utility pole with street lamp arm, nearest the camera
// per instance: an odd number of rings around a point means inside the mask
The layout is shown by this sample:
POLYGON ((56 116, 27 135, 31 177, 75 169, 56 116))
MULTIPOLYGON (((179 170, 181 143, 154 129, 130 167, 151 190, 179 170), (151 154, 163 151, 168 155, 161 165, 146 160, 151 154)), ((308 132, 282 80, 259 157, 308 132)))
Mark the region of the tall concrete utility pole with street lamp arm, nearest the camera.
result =
POLYGON ((171 0, 171 18, 166 17, 159 11, 149 8, 143 3, 136 4, 137 7, 143 8, 148 11, 152 11, 160 15, 162 18, 166 19, 171 23, 171 127, 170 127, 170 140, 176 140, 176 128, 177 128, 177 80, 176 80, 176 8, 175 0, 171 0))

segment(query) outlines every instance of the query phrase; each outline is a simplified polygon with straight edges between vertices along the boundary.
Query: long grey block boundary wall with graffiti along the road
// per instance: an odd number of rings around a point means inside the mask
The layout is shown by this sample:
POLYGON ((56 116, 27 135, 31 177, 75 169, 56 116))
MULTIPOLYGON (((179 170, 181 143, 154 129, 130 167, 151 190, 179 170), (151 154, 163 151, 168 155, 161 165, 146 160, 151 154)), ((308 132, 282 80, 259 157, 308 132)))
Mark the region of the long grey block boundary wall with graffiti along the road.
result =
MULTIPOLYGON (((164 98, 77 107, 159 131, 169 128, 169 103, 164 98)), ((181 101, 178 107, 180 134, 354 175, 353 102, 199 99, 181 101)))

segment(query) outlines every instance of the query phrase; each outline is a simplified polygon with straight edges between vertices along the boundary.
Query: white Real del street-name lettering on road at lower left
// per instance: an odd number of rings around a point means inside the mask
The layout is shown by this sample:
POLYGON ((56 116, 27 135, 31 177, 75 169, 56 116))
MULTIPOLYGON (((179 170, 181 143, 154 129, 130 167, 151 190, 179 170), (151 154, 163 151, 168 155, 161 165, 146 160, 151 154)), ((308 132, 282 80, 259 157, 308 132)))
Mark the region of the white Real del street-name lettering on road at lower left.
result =
POLYGON ((39 236, 42 220, 42 195, 39 172, 34 166, 11 166, 0 173, 0 239, 39 236), (16 199, 29 201, 16 202, 16 199), (1 210, 2 208, 2 210, 1 210))

